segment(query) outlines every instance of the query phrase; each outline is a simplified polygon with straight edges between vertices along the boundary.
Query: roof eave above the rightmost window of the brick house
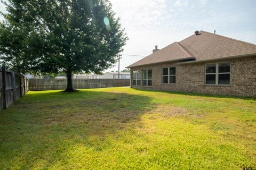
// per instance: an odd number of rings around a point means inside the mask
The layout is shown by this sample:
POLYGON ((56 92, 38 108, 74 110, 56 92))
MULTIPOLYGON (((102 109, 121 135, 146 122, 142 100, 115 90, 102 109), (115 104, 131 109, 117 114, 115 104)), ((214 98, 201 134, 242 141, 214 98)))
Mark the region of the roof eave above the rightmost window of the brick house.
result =
POLYGON ((210 62, 210 61, 218 61, 218 60, 229 60, 229 59, 242 58, 242 57, 256 57, 256 53, 219 57, 219 58, 209 58, 209 59, 204 59, 204 60, 196 60, 196 61, 188 61, 188 62, 180 62, 178 64, 193 64, 193 63, 202 63, 202 62, 210 62))

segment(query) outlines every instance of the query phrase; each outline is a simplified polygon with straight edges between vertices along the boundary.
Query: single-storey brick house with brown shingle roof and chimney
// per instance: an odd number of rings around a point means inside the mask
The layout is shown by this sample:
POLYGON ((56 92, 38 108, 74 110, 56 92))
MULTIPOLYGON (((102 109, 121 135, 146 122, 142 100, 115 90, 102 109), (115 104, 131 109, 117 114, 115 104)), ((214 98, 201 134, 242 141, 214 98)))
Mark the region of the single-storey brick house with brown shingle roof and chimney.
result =
POLYGON ((129 66, 131 87, 256 97, 256 45, 195 31, 129 66))

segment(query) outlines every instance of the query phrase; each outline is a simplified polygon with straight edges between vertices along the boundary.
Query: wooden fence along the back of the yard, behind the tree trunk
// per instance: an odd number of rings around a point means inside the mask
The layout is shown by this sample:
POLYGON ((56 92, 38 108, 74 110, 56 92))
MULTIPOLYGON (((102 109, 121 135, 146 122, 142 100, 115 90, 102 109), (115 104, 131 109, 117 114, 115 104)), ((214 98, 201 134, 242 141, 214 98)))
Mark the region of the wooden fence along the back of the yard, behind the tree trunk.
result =
MULTIPOLYGON (((28 79, 29 90, 63 90, 67 79, 28 79)), ((73 79, 74 89, 92 89, 104 87, 130 86, 130 79, 73 79)))

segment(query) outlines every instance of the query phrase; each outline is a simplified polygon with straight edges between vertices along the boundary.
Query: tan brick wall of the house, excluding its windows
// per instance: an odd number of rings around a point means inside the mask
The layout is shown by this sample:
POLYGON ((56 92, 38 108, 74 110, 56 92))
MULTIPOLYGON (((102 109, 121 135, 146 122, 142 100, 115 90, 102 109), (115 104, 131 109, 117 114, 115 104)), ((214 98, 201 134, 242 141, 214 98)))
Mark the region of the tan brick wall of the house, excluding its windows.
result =
POLYGON ((256 97, 256 57, 239 58, 227 62, 231 64, 230 86, 205 85, 205 63, 161 63, 132 67, 131 71, 152 69, 153 74, 153 85, 151 87, 133 85, 132 87, 155 90, 190 91, 214 95, 256 97), (162 68, 170 66, 176 67, 176 84, 163 84, 162 68))

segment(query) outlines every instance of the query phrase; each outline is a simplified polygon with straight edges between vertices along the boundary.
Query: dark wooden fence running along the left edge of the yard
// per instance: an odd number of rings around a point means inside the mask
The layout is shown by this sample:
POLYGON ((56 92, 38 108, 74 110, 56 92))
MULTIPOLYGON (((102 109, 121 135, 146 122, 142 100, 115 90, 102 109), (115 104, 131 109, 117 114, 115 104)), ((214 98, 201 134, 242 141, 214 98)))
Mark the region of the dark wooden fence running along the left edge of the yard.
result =
POLYGON ((28 92, 28 80, 23 75, 0 67, 0 109, 7 108, 28 92))

